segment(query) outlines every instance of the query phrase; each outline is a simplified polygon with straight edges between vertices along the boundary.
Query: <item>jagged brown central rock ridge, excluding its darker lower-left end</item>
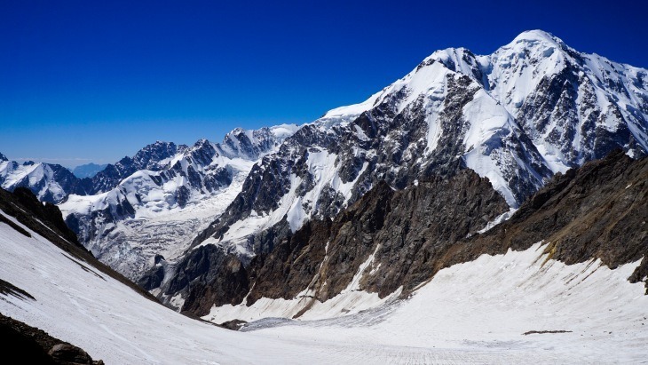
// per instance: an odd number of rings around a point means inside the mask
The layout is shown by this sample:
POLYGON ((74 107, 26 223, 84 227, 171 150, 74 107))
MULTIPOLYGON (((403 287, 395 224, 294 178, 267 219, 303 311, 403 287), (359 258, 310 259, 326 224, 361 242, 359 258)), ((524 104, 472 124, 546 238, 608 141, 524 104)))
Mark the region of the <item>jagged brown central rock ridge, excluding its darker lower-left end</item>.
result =
POLYGON ((313 299, 332 298, 374 252, 367 271, 380 269, 364 276, 362 290, 383 297, 401 285, 414 288, 431 277, 425 264, 439 247, 475 233, 505 210, 502 197, 472 171, 398 192, 379 183, 333 222, 310 222, 253 259, 248 305, 263 297, 294 298, 305 288, 314 290, 313 299))

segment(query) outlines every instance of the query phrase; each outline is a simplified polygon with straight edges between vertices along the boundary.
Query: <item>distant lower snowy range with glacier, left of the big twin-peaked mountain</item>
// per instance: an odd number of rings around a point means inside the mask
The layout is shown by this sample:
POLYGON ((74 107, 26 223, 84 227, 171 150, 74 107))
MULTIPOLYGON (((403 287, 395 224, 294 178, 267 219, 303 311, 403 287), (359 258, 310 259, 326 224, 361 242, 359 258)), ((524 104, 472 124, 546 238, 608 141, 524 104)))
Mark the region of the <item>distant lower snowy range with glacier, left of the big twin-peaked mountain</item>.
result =
POLYGON ((220 144, 156 142, 99 172, 99 194, 70 194, 59 204, 67 224, 99 259, 131 278, 155 255, 175 258, 235 194, 260 156, 296 131, 280 125, 236 129, 220 144), (103 191, 103 192, 102 192, 103 191))

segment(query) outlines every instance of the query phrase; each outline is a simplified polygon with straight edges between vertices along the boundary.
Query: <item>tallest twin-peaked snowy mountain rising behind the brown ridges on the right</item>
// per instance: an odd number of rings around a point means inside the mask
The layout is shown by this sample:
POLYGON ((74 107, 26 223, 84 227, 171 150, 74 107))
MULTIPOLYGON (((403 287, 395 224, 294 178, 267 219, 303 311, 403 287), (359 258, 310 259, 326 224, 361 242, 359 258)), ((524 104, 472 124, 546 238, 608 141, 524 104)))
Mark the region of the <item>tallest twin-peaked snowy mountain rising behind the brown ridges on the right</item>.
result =
POLYGON ((549 33, 493 54, 434 52, 366 101, 286 139, 195 245, 244 262, 384 180, 402 189, 470 169, 518 207, 549 178, 614 148, 648 150, 648 70, 573 50, 549 33))

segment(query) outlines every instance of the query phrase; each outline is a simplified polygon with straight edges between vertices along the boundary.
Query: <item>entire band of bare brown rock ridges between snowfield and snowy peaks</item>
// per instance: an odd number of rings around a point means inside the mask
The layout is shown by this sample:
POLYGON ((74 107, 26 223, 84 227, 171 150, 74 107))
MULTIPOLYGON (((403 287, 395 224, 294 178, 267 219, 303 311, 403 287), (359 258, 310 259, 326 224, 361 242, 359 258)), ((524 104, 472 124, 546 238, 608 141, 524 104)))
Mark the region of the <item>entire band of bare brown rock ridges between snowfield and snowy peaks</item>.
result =
MULTIPOLYGON (((272 252, 253 258, 246 268, 233 265, 233 255, 227 256, 226 265, 218 261, 225 255, 210 258, 201 274, 188 278, 182 309, 205 315, 211 305, 237 304, 246 295, 251 305, 263 297, 295 298, 307 288, 313 290, 313 301, 325 301, 347 287, 374 253, 360 290, 377 292, 383 298, 402 286, 406 296, 445 267, 483 254, 526 250, 541 241, 548 243, 549 258, 566 264, 600 258, 615 268, 644 258, 628 280, 646 280, 647 158, 632 160, 617 151, 579 170, 557 174, 512 218, 477 234, 506 210, 508 206, 487 180, 471 171, 452 179, 420 181, 402 191, 380 183, 333 221, 308 222, 272 252), (229 283, 222 290, 218 276, 205 280, 207 273, 233 266, 241 278, 238 286, 229 283), (242 272, 247 274, 245 279, 242 272)), ((216 250, 208 245, 195 251, 216 250)), ((192 256, 200 255, 204 253, 192 256)), ((179 266, 198 267, 185 261, 179 266)), ((228 273, 232 278, 233 271, 228 273)))

